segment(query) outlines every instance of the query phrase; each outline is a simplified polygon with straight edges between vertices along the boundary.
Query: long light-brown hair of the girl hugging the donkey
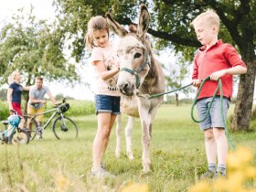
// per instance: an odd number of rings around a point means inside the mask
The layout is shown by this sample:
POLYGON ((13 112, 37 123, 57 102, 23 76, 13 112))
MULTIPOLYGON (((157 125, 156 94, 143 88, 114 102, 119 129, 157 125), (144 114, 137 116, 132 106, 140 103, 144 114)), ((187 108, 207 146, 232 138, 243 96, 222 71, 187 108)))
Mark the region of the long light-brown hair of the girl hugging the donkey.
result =
POLYGON ((95 30, 106 29, 110 33, 106 19, 103 16, 93 16, 87 24, 87 33, 84 37, 86 47, 91 50, 96 47, 93 41, 93 32, 95 30))

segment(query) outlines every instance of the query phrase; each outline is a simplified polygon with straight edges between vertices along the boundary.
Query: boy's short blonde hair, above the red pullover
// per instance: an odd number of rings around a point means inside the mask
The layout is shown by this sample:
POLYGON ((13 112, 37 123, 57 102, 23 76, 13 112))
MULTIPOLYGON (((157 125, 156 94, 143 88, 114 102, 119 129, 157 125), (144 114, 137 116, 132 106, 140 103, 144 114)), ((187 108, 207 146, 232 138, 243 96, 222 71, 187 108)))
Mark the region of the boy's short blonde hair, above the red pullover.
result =
POLYGON ((197 16, 191 22, 191 25, 195 27, 195 25, 199 22, 208 22, 208 24, 211 26, 216 25, 219 31, 219 16, 212 9, 208 9, 206 12, 201 13, 199 16, 197 16))

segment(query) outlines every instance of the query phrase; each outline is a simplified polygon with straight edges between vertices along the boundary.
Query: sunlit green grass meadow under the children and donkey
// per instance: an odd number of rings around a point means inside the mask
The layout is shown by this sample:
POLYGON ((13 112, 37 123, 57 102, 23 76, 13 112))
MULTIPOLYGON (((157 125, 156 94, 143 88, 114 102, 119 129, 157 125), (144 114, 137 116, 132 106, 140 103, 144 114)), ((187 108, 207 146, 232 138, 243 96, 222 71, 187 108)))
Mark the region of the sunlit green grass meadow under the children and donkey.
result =
MULTIPOLYGON (((124 142, 123 155, 115 158, 113 129, 104 164, 116 177, 105 181, 90 177, 91 146, 97 128, 96 116, 91 114, 72 117, 80 129, 77 140, 59 141, 48 127, 43 141, 35 140, 19 147, 0 145, 0 188, 3 191, 121 191, 133 182, 146 183, 150 191, 187 191, 187 187, 197 182, 197 175, 207 169, 203 133, 192 122, 190 107, 162 105, 159 109, 151 144, 153 171, 149 175, 142 175, 141 125, 136 119, 135 159, 127 159, 124 142)), ((123 120, 126 122, 127 117, 123 116, 123 120)), ((256 133, 230 133, 230 136, 236 147, 251 148, 252 163, 256 165, 256 133)), ((256 181, 250 187, 256 187, 256 181)))

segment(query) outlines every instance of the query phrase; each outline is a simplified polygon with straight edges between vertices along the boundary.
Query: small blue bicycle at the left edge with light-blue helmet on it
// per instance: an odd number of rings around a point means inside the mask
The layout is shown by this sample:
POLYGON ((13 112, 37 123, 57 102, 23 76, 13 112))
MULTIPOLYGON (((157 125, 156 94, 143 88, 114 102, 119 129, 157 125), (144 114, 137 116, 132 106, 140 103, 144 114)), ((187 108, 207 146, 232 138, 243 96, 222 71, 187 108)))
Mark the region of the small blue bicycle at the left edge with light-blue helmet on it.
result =
POLYGON ((17 115, 17 112, 11 110, 14 114, 10 115, 7 118, 7 121, 2 121, 5 125, 5 131, 0 133, 0 140, 2 143, 8 144, 28 144, 29 143, 29 135, 26 130, 20 129, 18 124, 20 123, 21 117, 17 115), (9 126, 8 128, 8 125, 9 126))

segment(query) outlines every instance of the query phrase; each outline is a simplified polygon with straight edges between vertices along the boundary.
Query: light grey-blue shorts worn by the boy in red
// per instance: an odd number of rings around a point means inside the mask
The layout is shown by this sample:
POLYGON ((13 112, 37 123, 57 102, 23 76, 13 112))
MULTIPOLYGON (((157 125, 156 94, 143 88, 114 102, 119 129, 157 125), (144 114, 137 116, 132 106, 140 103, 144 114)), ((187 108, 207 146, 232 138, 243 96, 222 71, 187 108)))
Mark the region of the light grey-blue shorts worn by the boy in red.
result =
MULTIPOLYGON (((199 120, 202 120, 206 112, 208 111, 208 106, 210 101, 212 100, 212 97, 201 99, 197 101, 197 114, 199 120)), ((199 123, 201 130, 207 130, 208 128, 225 128, 224 123, 222 122, 222 114, 221 114, 221 107, 220 107, 220 97, 216 97, 214 101, 212 102, 211 109, 209 110, 209 114, 206 118, 206 120, 202 123, 199 123)), ((227 121, 227 115, 229 110, 229 99, 226 97, 223 97, 223 114, 225 123, 227 121)))

